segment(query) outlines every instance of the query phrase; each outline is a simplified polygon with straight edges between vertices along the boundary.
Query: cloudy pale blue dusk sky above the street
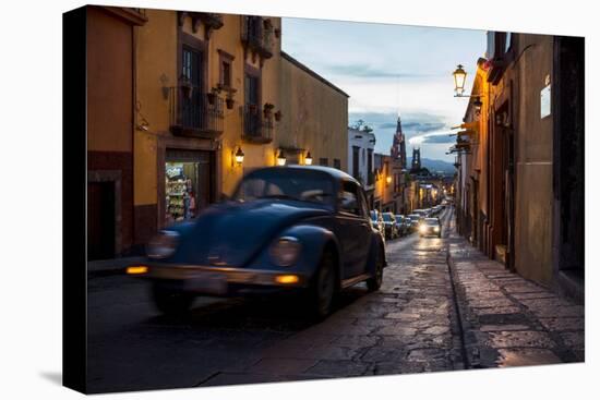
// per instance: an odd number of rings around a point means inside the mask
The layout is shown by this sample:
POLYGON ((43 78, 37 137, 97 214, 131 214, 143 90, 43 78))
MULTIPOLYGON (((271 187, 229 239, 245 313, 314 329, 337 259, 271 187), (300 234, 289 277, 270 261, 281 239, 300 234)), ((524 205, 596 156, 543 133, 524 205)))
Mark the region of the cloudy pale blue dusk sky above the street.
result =
POLYGON ((485 51, 485 32, 339 21, 284 19, 284 51, 350 95, 348 123, 374 129, 375 151, 389 154, 398 113, 422 158, 453 161, 467 99, 455 98, 452 72, 465 66, 466 93, 485 51))

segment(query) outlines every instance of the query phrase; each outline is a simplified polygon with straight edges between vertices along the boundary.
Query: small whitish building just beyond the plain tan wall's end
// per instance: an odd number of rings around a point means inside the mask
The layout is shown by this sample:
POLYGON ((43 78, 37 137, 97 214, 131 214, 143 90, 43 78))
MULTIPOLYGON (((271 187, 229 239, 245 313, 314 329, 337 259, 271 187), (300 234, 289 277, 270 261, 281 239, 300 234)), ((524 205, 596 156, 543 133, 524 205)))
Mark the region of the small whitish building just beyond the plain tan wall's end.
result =
POLYGON ((373 132, 348 128, 348 172, 362 183, 370 203, 375 187, 374 148, 373 132))

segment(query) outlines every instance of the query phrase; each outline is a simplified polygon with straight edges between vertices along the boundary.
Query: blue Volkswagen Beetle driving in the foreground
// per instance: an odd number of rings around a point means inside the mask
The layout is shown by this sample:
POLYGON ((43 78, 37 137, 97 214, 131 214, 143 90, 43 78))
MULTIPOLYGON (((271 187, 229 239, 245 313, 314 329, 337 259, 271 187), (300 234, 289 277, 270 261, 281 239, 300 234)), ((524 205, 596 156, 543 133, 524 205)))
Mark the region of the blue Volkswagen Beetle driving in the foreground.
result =
POLYGON ((301 290, 324 317, 339 290, 361 281, 377 290, 385 264, 360 183, 333 168, 289 166, 250 172, 230 199, 163 230, 147 262, 128 272, 152 280, 166 314, 185 312, 196 295, 301 290))

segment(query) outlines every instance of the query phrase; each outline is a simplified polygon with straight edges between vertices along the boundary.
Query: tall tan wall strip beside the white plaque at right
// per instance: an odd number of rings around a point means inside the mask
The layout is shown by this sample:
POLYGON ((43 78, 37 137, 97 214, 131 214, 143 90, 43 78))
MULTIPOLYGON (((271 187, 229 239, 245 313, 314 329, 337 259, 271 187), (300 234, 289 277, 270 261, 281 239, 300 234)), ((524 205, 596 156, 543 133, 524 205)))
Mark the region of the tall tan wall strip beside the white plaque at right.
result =
POLYGON ((540 90, 547 75, 553 78, 553 40, 552 36, 519 35, 517 53, 523 54, 511 71, 519 109, 515 121, 515 266, 524 277, 543 283, 552 279, 553 117, 540 118, 540 90))

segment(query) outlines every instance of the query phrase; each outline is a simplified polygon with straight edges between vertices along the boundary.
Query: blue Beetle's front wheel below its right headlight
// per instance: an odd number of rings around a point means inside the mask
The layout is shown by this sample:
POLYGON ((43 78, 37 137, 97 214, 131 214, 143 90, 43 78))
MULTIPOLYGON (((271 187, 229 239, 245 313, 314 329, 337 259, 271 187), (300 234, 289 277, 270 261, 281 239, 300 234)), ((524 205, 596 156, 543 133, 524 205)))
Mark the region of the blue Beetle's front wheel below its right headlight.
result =
POLYGON ((312 308, 316 318, 321 319, 329 315, 336 291, 334 256, 331 252, 326 252, 323 254, 311 288, 312 308))

